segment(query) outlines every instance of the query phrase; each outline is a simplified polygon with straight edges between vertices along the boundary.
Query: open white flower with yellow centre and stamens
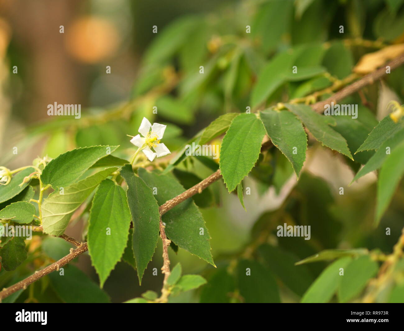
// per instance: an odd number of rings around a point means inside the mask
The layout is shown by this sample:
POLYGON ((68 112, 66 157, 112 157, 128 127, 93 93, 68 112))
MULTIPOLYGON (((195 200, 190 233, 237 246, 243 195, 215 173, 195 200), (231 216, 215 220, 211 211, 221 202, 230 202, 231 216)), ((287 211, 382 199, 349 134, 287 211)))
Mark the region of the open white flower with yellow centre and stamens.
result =
POLYGON ((153 161, 156 156, 159 158, 160 156, 171 153, 164 143, 160 143, 165 130, 166 125, 158 123, 151 125, 147 118, 143 117, 143 120, 139 126, 139 132, 143 137, 137 135, 130 139, 130 142, 133 143, 133 145, 141 148, 147 158, 150 161, 153 161), (151 150, 151 148, 154 149, 154 152, 151 150))

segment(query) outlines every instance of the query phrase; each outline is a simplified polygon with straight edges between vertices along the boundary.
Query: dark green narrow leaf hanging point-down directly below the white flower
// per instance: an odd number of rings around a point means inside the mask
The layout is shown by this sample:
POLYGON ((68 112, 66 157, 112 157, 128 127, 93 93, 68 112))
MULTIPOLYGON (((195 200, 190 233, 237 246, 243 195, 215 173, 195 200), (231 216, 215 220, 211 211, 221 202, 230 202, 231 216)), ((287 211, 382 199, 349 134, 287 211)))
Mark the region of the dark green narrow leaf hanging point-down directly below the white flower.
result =
POLYGON ((147 264, 151 261, 159 236, 160 213, 153 192, 146 183, 135 176, 132 166, 121 169, 121 176, 128 185, 128 202, 133 219, 133 253, 136 260, 139 283, 147 264))

